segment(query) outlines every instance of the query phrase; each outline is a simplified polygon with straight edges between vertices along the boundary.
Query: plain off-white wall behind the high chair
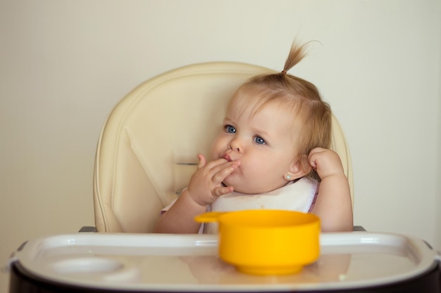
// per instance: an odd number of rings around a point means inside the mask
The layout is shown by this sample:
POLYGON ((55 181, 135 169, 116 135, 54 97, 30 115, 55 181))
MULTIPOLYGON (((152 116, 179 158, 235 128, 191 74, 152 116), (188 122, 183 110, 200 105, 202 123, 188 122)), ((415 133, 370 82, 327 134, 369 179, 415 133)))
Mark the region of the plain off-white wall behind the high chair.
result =
POLYGON ((126 93, 192 63, 282 70, 296 36, 320 41, 290 73, 347 134, 354 223, 441 249, 440 15, 439 0, 1 0, 1 266, 94 225, 97 139, 126 93))

